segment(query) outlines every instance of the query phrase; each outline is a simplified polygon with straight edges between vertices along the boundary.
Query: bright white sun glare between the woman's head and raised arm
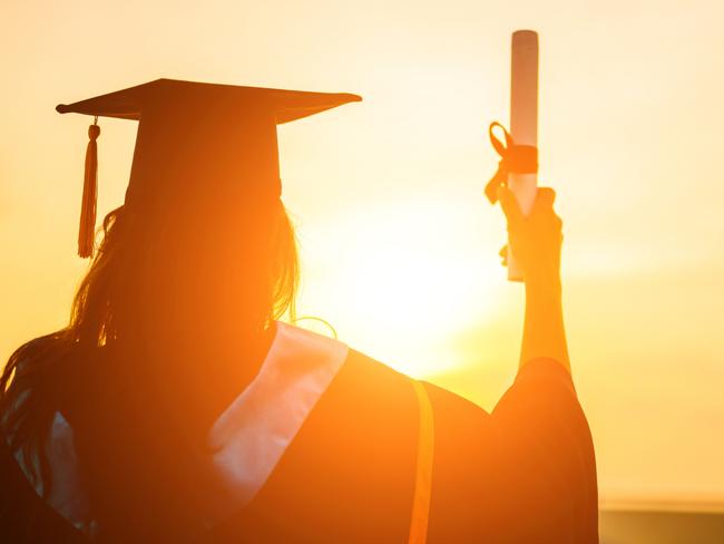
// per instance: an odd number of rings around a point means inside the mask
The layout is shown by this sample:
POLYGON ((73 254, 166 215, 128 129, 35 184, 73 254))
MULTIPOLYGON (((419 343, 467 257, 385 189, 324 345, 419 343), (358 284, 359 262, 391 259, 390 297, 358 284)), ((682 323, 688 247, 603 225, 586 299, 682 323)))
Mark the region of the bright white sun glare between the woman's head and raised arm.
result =
POLYGON ((301 313, 413 376, 456 365, 451 343, 490 313, 501 273, 471 251, 462 223, 454 208, 423 201, 302 229, 301 313))

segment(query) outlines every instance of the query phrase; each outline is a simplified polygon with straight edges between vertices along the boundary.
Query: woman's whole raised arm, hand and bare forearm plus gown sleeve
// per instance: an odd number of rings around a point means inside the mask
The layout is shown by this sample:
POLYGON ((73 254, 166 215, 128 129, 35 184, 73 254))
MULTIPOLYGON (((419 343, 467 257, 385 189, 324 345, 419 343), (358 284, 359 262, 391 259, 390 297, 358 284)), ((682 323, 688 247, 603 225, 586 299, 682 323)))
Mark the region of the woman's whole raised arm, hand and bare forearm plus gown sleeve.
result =
POLYGON ((501 532, 506 542, 597 544, 596 455, 570 376, 556 194, 539 188, 528 216, 509 190, 499 196, 526 281, 521 368, 492 412, 502 445, 501 532))

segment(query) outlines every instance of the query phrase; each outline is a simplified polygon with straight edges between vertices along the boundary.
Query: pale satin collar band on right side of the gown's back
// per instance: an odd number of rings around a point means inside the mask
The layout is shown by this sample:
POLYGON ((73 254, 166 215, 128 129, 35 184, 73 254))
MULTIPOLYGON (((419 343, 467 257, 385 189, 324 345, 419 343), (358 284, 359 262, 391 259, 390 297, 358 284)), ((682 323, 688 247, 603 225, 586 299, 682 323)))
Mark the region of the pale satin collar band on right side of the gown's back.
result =
POLYGON ((263 487, 348 351, 337 340, 277 323, 258 375, 209 433, 214 469, 229 495, 213 508, 212 524, 263 487))

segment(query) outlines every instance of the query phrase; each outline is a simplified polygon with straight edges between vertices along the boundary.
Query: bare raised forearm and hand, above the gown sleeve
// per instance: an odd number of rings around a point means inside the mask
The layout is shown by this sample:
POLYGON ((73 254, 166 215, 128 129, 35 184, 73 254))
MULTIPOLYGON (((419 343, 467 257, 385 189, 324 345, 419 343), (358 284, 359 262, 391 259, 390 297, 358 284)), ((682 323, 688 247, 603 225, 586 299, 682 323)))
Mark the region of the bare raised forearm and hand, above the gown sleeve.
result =
POLYGON ((526 282, 520 366, 532 359, 548 358, 570 372, 560 283, 562 223, 554 212, 556 193, 540 187, 528 216, 522 214, 508 187, 500 187, 499 197, 508 220, 508 243, 524 270, 526 282))

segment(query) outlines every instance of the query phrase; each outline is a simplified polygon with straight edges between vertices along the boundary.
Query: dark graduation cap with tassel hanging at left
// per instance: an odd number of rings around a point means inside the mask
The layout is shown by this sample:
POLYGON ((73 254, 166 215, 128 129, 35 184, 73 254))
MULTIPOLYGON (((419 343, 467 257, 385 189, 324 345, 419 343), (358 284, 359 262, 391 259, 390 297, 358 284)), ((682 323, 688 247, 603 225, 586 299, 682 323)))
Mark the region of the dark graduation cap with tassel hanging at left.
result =
POLYGON ((276 125, 361 99, 350 94, 157 79, 60 104, 56 109, 61 114, 95 116, 88 129, 78 254, 92 255, 98 117, 139 122, 125 207, 143 215, 174 201, 194 202, 224 184, 254 203, 278 198, 276 125))

